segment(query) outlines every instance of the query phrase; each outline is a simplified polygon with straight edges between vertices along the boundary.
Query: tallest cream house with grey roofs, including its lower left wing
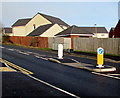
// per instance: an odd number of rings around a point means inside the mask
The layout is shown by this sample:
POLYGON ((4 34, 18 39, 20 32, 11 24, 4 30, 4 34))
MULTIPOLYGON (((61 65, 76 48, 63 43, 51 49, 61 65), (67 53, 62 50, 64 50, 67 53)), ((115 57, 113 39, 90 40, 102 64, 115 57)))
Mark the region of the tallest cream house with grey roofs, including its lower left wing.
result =
POLYGON ((69 25, 59 18, 37 13, 33 18, 19 19, 12 25, 14 36, 27 36, 33 30, 47 24, 58 24, 61 28, 66 29, 69 25))

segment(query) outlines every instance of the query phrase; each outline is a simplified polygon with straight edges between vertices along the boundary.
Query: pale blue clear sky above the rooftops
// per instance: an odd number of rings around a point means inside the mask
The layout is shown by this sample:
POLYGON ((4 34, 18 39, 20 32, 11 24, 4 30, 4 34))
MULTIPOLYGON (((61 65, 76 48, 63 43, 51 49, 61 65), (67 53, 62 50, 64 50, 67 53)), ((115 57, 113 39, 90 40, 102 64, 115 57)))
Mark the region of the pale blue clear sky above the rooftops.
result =
POLYGON ((2 24, 12 26, 18 19, 38 12, 58 17, 70 26, 106 27, 118 22, 118 2, 2 2, 2 24))

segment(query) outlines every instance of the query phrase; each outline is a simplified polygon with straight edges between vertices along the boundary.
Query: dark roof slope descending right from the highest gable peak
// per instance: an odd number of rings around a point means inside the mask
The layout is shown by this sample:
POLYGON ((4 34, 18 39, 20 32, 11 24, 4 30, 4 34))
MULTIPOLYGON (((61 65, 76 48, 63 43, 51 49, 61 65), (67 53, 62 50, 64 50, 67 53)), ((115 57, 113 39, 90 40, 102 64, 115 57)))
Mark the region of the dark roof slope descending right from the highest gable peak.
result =
POLYGON ((42 13, 38 13, 38 14, 42 15, 44 18, 48 19, 53 24, 57 23, 59 25, 69 26, 67 23, 65 23, 64 21, 62 21, 61 19, 59 19, 57 17, 45 15, 45 14, 42 14, 42 13))

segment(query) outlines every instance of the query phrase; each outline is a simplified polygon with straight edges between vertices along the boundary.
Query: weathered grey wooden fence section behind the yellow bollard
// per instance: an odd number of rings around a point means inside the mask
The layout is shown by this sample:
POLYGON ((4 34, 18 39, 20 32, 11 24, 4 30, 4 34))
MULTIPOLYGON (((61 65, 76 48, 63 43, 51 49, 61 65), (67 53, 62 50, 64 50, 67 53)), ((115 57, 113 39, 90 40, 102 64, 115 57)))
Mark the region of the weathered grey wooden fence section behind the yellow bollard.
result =
POLYGON ((96 52, 102 47, 106 54, 120 55, 120 38, 74 38, 74 51, 96 52))

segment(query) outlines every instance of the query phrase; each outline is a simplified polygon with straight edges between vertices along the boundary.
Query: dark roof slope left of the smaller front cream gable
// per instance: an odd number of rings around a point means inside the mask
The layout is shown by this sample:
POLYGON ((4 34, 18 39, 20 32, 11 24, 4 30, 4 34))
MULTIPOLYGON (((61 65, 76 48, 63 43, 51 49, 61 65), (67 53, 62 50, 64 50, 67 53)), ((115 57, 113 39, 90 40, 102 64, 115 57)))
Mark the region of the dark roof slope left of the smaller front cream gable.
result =
POLYGON ((48 30, 50 27, 52 27, 53 25, 54 24, 47 24, 47 25, 39 26, 37 29, 32 31, 27 36, 39 36, 39 35, 43 34, 46 30, 48 30))

